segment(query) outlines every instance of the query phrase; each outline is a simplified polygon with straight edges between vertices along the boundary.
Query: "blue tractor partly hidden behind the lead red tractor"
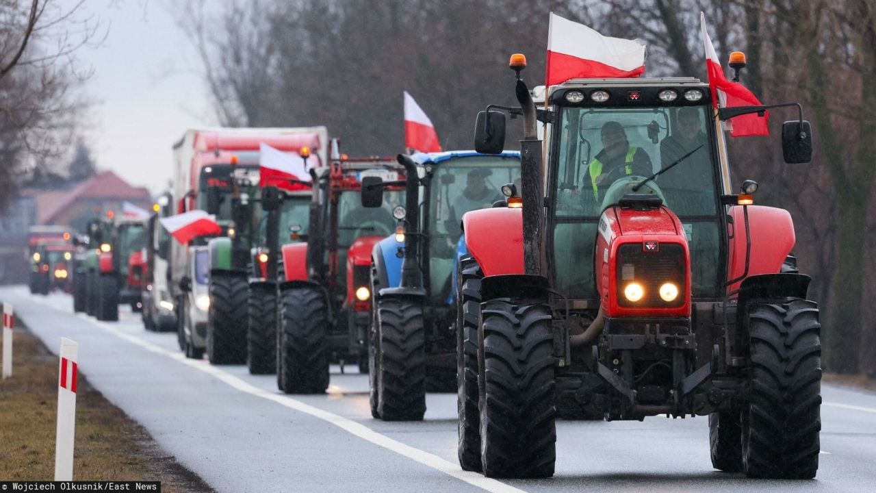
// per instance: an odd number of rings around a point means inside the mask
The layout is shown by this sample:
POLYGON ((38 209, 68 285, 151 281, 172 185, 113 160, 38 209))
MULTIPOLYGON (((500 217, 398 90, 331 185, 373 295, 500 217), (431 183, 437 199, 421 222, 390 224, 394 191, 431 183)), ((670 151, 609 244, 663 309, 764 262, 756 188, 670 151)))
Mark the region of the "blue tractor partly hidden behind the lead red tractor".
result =
MULTIPOLYGON (((460 220, 468 211, 505 205, 500 188, 519 181, 519 153, 450 151, 399 154, 406 206, 395 234, 371 254, 368 373, 371 415, 420 420, 426 391, 455 391, 456 269, 467 258, 460 220)), ((363 182, 366 207, 381 204, 378 177, 363 182)))

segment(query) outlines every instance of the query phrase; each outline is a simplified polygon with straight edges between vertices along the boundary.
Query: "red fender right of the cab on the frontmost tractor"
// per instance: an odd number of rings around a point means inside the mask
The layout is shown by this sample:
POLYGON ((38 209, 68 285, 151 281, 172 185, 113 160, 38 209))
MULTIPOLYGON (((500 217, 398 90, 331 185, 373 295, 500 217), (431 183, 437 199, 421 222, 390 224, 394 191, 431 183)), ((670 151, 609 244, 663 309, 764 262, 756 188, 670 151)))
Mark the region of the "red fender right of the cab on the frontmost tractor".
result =
MULTIPOLYGON (((741 205, 730 208, 733 224, 729 246, 728 273, 730 279, 737 279, 745 273, 745 214, 741 205)), ((794 220, 784 209, 763 205, 748 206, 748 225, 752 234, 751 259, 748 277, 760 274, 781 272, 781 264, 794 248, 796 237, 794 220)), ((740 282, 728 289, 734 291, 740 282)))

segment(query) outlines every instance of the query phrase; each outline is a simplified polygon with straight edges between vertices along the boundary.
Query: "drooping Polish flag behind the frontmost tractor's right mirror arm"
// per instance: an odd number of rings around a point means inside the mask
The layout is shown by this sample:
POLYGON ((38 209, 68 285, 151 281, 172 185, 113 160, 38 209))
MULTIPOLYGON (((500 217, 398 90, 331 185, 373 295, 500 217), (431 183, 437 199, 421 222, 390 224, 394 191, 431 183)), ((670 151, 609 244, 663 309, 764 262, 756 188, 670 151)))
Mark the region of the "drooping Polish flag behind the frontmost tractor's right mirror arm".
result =
MULTIPOLYGON (((754 106, 759 105, 759 99, 752 94, 752 91, 745 88, 739 82, 728 81, 724 76, 724 68, 721 68, 721 61, 715 53, 715 46, 712 46, 709 32, 706 31, 706 16, 700 12, 700 26, 703 29, 703 45, 706 50, 706 73, 709 75, 709 89, 712 95, 712 104, 715 108, 720 106, 723 108, 732 108, 734 106, 754 106)), ((769 111, 765 111, 763 117, 759 117, 757 113, 749 115, 740 115, 727 120, 727 126, 730 127, 731 137, 748 137, 750 135, 769 135, 769 111)))

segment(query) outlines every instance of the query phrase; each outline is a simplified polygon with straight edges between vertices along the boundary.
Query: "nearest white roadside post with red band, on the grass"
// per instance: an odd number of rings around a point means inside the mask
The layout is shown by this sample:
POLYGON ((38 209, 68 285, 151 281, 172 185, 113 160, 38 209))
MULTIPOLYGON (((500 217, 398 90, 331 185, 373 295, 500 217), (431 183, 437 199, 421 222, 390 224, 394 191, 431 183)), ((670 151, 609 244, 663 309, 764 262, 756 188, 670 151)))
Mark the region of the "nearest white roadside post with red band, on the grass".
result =
POLYGON ((55 432, 55 481, 73 481, 73 437, 76 425, 76 361, 79 343, 60 338, 58 428, 55 432))

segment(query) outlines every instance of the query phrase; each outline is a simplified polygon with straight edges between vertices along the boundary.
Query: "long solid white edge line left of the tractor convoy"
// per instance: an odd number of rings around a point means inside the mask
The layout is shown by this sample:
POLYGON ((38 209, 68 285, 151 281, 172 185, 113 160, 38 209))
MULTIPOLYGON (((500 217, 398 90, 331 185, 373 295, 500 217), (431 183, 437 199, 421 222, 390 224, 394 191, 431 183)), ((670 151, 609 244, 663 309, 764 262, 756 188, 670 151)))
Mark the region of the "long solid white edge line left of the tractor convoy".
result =
POLYGON ((369 428, 368 426, 357 423, 356 421, 353 421, 351 419, 343 418, 329 411, 323 411, 309 404, 304 404, 303 402, 293 399, 292 397, 288 397, 284 394, 272 393, 264 389, 259 389, 258 387, 255 387, 250 383, 244 382, 240 378, 237 378, 237 376, 230 375, 220 368, 211 366, 206 360, 190 360, 181 353, 168 351, 163 347, 156 346, 151 342, 147 342, 144 339, 140 339, 137 336, 131 335, 130 333, 122 332, 114 325, 110 325, 106 322, 95 322, 88 318, 88 316, 84 313, 79 313, 77 315, 79 315, 80 318, 91 321, 93 325, 96 325, 104 332, 109 332, 110 334, 117 336, 119 339, 124 339, 128 342, 131 342, 131 344, 143 347, 145 350, 151 351, 152 353, 163 354, 168 358, 179 361, 182 364, 201 370, 202 372, 208 375, 212 375, 215 378, 229 384, 234 389, 250 394, 251 396, 267 399, 295 411, 304 412, 306 414, 309 414, 310 416, 313 416, 314 418, 320 418, 323 421, 326 421, 332 425, 336 425, 345 432, 349 432, 350 434, 359 437, 360 439, 370 441, 371 443, 379 447, 384 447, 385 449, 391 450, 396 454, 400 454, 407 457, 408 459, 420 462, 420 464, 423 464, 424 466, 441 471, 446 475, 450 475, 464 482, 468 482, 470 485, 477 488, 496 493, 525 493, 523 489, 514 488, 513 486, 505 484, 504 482, 499 482, 474 472, 463 471, 459 468, 458 464, 450 461, 445 461, 437 455, 429 454, 425 451, 420 450, 419 448, 411 447, 409 445, 401 443, 398 440, 391 439, 385 435, 375 432, 374 430, 371 430, 371 428, 369 428))

